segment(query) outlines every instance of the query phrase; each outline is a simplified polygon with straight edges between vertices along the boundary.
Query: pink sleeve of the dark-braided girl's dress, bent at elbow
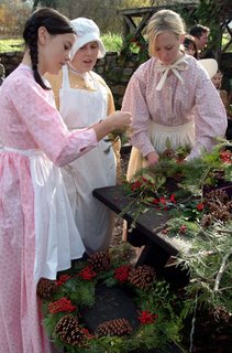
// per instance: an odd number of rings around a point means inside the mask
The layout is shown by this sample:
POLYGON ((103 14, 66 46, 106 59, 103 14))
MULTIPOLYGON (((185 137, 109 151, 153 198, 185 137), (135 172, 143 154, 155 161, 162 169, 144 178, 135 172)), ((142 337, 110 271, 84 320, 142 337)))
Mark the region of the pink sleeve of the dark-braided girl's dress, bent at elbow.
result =
POLYGON ((8 97, 37 148, 56 165, 68 164, 97 146, 93 129, 68 131, 47 92, 32 79, 14 82, 8 97))

